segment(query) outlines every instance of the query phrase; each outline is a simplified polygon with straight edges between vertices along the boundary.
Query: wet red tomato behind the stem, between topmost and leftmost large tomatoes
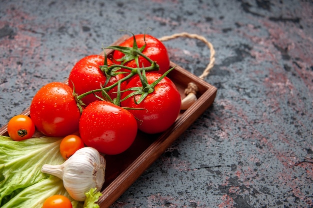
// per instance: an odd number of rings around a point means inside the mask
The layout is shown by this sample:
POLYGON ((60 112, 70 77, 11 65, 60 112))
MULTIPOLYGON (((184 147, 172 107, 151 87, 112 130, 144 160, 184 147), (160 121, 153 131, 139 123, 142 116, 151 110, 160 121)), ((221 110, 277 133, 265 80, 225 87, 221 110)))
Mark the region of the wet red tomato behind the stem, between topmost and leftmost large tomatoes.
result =
MULTIPOLYGON (((103 64, 104 56, 100 55, 89 55, 80 59, 69 73, 68 85, 73 88, 74 84, 75 92, 78 95, 91 90, 100 89, 101 86, 103 87, 106 81, 105 74, 99 68, 99 66, 103 64)), ((110 59, 107 59, 107 64, 110 65, 113 64, 113 62, 110 59)), ((123 74, 112 76, 106 86, 114 84, 123 77, 123 74)), ((124 86, 126 86, 126 83, 121 83, 121 90, 124 86)), ((112 99, 116 97, 116 93, 112 93, 115 91, 117 91, 117 86, 115 86, 108 92, 108 95, 112 99)), ((99 97, 102 97, 101 92, 96 92, 95 94, 99 97)), ((88 105, 89 103, 99 99, 91 93, 83 97, 81 100, 84 104, 88 105)))

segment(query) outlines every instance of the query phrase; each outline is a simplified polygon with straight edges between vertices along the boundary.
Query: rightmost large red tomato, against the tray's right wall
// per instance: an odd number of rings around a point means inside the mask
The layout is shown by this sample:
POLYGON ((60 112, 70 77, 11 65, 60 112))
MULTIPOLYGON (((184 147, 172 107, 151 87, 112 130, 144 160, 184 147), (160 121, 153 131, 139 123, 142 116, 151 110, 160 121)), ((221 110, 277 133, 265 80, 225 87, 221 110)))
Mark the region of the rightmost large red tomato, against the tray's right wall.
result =
MULTIPOLYGON (((146 73, 148 83, 154 82, 161 75, 154 72, 146 73)), ((126 88, 142 86, 139 76, 134 76, 128 82, 126 88)), ((125 91, 122 99, 132 91, 125 91)), ((122 107, 140 108, 144 110, 129 110, 137 119, 138 129, 149 134, 160 133, 169 128, 176 120, 180 112, 180 94, 174 83, 164 77, 148 94, 145 99, 136 104, 140 95, 130 97, 121 102, 122 107)))

